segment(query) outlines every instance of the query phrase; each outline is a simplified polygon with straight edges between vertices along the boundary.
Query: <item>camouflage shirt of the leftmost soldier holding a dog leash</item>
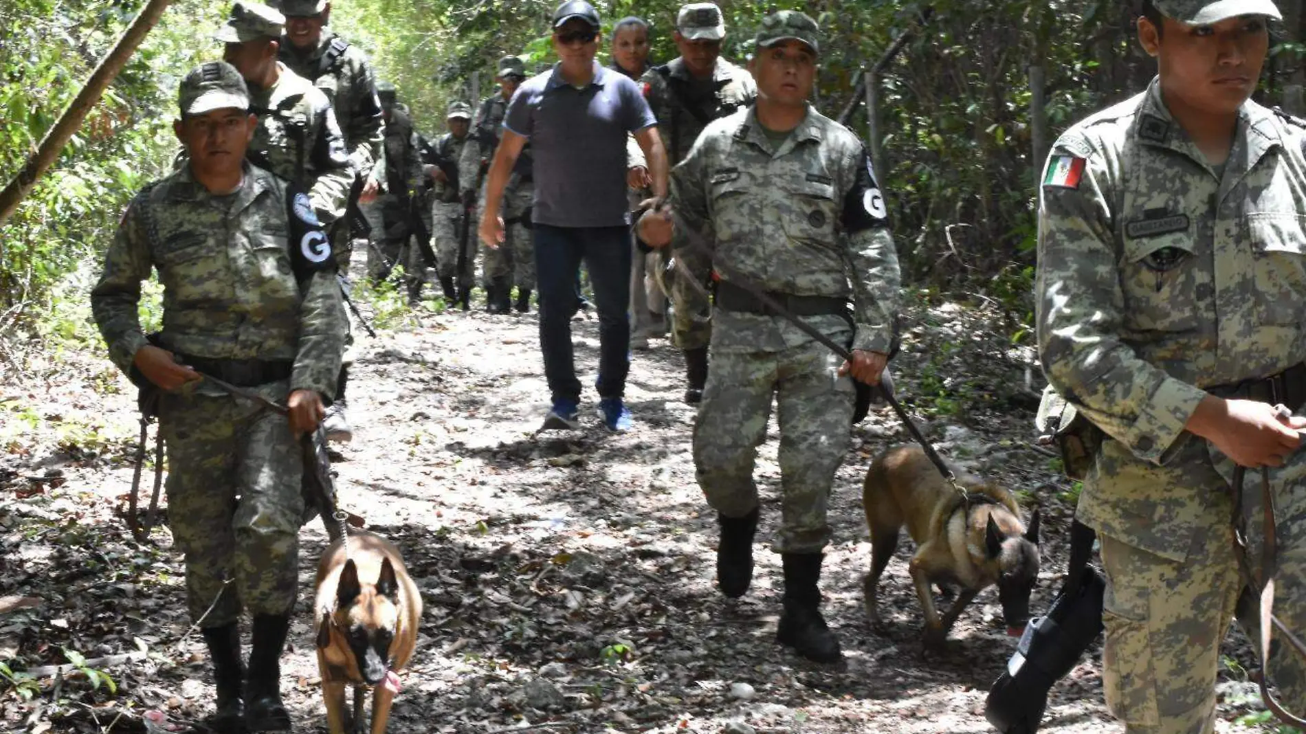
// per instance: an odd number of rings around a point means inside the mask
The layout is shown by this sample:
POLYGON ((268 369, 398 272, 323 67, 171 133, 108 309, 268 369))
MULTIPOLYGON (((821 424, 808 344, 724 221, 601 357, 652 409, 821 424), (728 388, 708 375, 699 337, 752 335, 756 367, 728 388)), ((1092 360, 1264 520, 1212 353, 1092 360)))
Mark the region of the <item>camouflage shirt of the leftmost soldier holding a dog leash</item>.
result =
POLYGON ((210 195, 189 166, 137 195, 90 296, 114 363, 129 371, 146 343, 137 308, 141 281, 157 269, 168 349, 291 360, 290 389, 333 396, 345 343, 340 286, 332 269, 296 279, 289 215, 286 183, 249 163, 230 196, 210 195))

